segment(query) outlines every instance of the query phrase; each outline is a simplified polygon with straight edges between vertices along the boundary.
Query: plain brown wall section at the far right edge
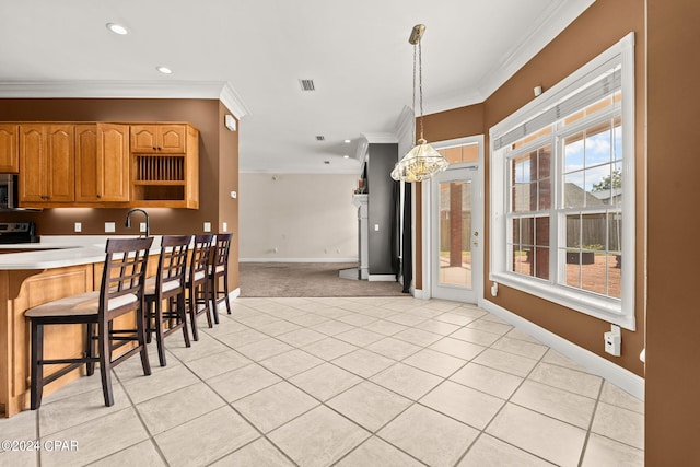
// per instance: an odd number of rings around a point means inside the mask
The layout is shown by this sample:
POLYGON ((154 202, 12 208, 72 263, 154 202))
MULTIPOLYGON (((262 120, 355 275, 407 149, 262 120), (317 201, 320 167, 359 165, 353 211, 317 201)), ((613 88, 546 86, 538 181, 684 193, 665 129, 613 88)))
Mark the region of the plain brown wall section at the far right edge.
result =
POLYGON ((646 0, 648 466, 700 465, 700 3, 646 0))

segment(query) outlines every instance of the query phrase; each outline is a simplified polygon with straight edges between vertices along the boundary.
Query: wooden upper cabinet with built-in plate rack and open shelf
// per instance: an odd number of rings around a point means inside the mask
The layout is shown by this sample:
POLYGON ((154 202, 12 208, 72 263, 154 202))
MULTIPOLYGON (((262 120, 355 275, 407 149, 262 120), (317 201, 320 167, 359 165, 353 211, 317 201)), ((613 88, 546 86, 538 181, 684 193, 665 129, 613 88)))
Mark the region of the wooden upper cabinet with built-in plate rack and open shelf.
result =
POLYGON ((199 208, 199 132, 186 124, 131 126, 131 205, 199 208))

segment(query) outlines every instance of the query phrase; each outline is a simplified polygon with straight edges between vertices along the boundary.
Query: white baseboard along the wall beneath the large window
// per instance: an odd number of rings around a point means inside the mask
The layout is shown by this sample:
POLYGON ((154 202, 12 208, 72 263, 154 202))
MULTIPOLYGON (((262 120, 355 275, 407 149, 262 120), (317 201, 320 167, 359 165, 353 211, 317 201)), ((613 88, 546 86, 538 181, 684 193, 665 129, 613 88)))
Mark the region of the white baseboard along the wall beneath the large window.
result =
MULTIPOLYGON (((625 389, 638 399, 644 400, 643 377, 638 376, 629 370, 616 365, 609 360, 596 355, 590 350, 579 347, 575 343, 568 341, 563 337, 558 336, 542 327, 539 327, 536 324, 528 322, 527 319, 514 313, 509 312, 508 310, 497 305, 495 303, 489 302, 488 300, 480 300, 479 306, 491 313, 492 315, 495 315, 499 318, 503 319, 504 322, 510 323, 523 332, 528 334, 544 345, 549 346, 551 349, 556 350, 568 359, 573 360, 592 373, 606 378, 614 385, 625 389)), ((603 346, 603 339, 600 339, 600 346, 603 346)))

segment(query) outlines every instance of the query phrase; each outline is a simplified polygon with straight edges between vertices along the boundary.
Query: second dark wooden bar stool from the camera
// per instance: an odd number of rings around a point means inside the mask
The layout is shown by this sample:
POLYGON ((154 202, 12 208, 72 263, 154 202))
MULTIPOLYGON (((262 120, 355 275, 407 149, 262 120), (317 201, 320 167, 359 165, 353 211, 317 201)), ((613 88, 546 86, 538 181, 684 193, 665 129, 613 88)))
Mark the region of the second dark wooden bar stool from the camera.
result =
POLYGON ((190 347, 185 310, 185 271, 191 238, 191 235, 163 236, 158 272, 145 280, 147 341, 150 342, 151 336, 155 335, 161 366, 165 366, 164 339, 167 336, 182 329, 185 346, 190 347), (165 301, 167 304, 163 308, 165 301))

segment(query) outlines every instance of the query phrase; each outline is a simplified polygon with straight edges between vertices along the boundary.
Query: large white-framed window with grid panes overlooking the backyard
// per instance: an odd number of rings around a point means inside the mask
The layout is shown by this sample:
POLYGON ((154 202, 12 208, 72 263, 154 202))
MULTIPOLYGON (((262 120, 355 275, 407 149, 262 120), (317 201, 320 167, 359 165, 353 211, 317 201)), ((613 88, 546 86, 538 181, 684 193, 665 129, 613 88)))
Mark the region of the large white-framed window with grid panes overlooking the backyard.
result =
POLYGON ((630 34, 491 129, 490 279, 629 329, 632 59, 630 34))

